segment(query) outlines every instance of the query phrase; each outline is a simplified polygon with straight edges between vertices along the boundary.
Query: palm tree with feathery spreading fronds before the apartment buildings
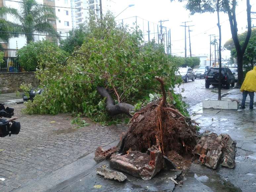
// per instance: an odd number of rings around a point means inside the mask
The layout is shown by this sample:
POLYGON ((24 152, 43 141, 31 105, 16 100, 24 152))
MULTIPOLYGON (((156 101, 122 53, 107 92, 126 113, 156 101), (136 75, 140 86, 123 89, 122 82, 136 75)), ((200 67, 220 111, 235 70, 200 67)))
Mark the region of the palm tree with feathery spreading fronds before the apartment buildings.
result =
POLYGON ((17 21, 3 24, 6 29, 7 26, 9 29, 16 29, 16 36, 25 36, 27 44, 34 41, 32 34, 35 33, 59 36, 53 25, 48 22, 48 19, 57 19, 53 8, 39 5, 35 0, 21 0, 20 5, 20 10, 11 7, 0 8, 0 15, 10 14, 17 21))

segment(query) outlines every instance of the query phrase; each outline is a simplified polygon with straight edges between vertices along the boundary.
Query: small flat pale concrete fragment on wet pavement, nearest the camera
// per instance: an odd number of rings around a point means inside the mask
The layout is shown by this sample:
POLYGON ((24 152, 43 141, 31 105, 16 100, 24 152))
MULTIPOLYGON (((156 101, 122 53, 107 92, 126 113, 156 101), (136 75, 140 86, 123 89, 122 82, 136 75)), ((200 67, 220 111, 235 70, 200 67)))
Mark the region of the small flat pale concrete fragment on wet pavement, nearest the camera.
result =
POLYGON ((96 172, 97 174, 104 176, 105 179, 115 179, 119 182, 122 182, 127 178, 123 173, 101 167, 97 168, 96 172))

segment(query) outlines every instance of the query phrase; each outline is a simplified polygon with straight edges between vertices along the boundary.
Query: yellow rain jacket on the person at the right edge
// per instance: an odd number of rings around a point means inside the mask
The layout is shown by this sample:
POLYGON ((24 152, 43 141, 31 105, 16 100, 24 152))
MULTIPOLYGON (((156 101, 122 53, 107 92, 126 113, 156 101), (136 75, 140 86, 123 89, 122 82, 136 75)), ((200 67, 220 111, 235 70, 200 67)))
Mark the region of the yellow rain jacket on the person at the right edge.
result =
POLYGON ((240 91, 256 92, 256 66, 253 67, 253 70, 250 70, 246 73, 240 91))

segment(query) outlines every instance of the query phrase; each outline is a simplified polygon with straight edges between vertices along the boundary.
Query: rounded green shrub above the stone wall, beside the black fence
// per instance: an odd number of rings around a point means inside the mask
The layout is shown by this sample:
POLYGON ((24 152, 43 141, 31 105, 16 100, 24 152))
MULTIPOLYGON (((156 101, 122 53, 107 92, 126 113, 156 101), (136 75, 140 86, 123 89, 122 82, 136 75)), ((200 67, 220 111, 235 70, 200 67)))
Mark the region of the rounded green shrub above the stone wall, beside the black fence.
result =
POLYGON ((57 44, 47 40, 30 42, 17 51, 18 61, 26 71, 35 71, 39 63, 44 67, 49 63, 63 62, 67 56, 57 44))

